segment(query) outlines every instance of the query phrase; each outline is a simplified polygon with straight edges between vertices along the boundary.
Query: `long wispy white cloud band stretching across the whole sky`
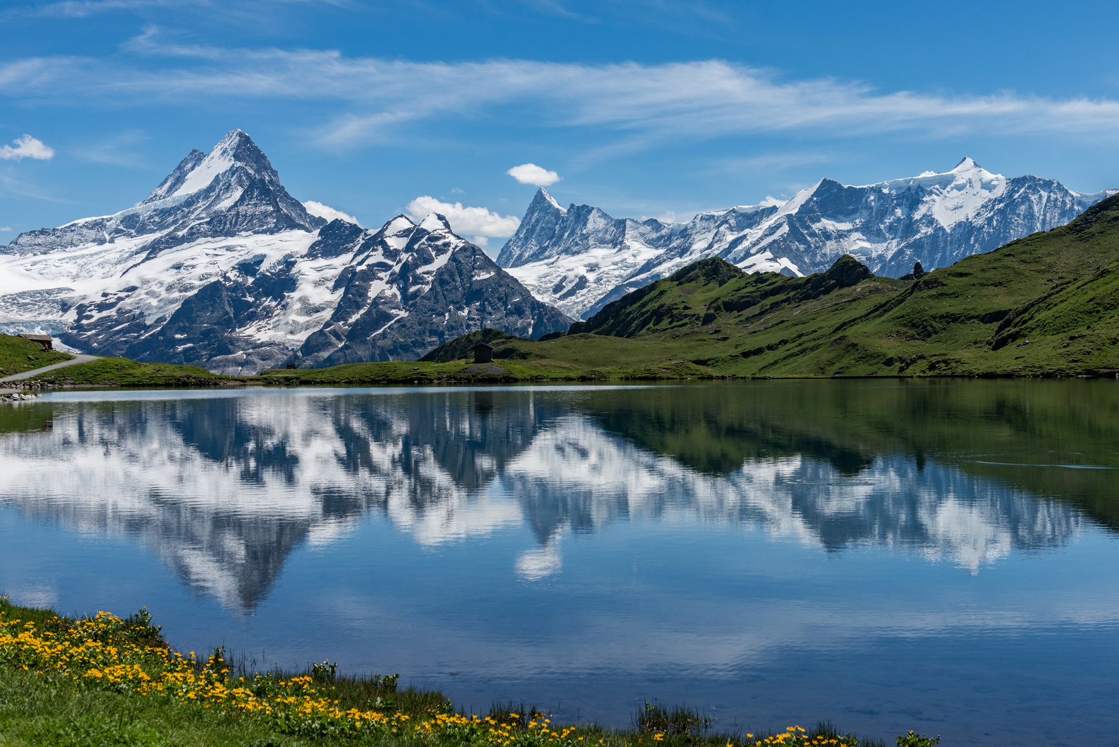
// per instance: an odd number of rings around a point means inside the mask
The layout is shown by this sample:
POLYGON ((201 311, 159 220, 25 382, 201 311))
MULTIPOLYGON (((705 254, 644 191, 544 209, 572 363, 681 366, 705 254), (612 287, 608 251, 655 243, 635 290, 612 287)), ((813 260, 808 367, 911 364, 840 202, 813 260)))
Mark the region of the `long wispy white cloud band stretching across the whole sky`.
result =
POLYGON ((486 119, 611 130, 651 146, 747 133, 855 137, 912 132, 1119 136, 1119 102, 882 92, 861 82, 784 80, 724 60, 584 65, 525 59, 431 63, 333 50, 226 49, 159 43, 149 29, 112 58, 37 57, 0 66, 11 99, 147 106, 236 99, 335 101, 319 142, 392 140, 422 120, 486 119))

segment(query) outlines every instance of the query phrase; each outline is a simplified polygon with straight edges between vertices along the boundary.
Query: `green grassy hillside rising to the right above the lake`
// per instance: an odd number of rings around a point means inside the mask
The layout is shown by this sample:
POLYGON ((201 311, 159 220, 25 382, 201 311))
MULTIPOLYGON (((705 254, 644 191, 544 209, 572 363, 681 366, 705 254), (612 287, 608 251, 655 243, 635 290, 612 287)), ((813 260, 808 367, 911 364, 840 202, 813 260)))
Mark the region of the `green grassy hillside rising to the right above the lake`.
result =
MULTIPOLYGON (((458 355, 455 343, 426 357, 458 355)), ((919 280, 875 278, 850 256, 809 278, 708 259, 567 336, 490 344, 499 361, 622 376, 1111 376, 1119 196, 919 280)))

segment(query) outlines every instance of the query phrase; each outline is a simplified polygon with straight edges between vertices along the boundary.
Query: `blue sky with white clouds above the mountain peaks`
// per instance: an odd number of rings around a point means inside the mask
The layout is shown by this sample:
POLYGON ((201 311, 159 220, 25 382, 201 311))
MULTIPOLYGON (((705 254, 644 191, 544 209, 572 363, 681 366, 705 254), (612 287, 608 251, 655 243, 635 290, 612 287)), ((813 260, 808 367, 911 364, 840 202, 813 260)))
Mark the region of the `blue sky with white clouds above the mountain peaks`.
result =
POLYGON ((485 208, 455 227, 489 251, 526 164, 563 204, 677 220, 963 156, 1097 192, 1117 28, 1111 1, 8 0, 0 242, 129 207, 233 128, 366 226, 485 208))

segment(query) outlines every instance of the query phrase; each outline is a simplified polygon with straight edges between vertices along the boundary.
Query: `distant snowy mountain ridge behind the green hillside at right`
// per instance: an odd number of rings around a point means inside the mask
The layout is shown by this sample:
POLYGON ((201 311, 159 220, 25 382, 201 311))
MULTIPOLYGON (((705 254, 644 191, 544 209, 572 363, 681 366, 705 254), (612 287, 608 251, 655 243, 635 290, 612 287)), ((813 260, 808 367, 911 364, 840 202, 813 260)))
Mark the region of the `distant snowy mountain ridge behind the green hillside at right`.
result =
POLYGON ((786 203, 700 213, 687 223, 613 218, 564 209, 540 189, 498 256, 537 298, 587 318, 627 292, 697 260, 718 256, 747 272, 801 276, 850 254, 900 277, 989 252, 1064 225, 1116 194, 1081 194, 1055 179, 1007 178, 970 158, 950 171, 866 186, 821 179, 786 203))

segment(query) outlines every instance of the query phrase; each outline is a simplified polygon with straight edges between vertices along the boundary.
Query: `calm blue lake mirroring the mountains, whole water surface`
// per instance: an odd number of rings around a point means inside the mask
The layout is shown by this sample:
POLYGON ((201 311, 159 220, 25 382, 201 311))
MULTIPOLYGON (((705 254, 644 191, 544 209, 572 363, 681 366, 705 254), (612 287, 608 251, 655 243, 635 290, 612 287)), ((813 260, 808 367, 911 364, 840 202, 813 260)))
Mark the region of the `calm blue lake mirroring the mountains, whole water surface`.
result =
POLYGON ((0 590, 486 709, 1116 745, 1119 382, 54 392, 0 590))

